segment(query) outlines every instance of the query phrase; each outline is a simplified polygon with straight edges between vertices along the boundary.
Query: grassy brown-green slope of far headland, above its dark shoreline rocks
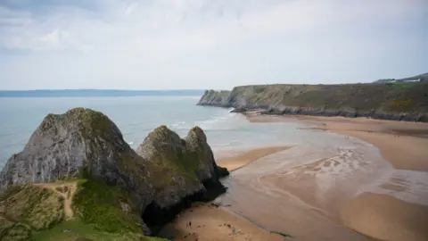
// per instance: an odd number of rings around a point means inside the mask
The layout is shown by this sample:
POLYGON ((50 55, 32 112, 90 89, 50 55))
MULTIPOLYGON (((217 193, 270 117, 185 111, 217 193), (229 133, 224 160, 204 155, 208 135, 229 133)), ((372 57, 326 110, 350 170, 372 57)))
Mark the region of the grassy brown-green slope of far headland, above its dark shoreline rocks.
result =
MULTIPOLYGON (((222 93, 220 96, 223 96, 222 93)), ((202 99, 213 99, 214 95, 202 99)), ((428 112, 428 83, 235 87, 229 102, 358 112, 428 112)))

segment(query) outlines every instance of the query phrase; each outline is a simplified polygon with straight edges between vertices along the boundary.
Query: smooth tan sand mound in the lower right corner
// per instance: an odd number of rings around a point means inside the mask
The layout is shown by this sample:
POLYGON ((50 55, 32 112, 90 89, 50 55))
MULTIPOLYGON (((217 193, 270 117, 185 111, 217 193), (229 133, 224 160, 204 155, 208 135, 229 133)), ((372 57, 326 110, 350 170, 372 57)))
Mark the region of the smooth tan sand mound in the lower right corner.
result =
POLYGON ((343 209, 350 229, 383 240, 428 240, 428 208, 409 204, 390 195, 364 193, 343 209))

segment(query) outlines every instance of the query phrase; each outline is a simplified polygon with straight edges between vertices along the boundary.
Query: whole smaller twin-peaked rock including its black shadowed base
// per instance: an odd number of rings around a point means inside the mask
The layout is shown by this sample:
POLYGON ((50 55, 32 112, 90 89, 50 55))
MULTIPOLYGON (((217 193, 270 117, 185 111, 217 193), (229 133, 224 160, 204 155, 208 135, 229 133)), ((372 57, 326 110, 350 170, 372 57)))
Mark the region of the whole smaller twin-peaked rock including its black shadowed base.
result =
POLYGON ((150 163, 149 170, 152 170, 151 183, 155 191, 143 219, 154 231, 193 201, 213 200, 226 191, 218 182, 224 175, 199 127, 190 129, 182 139, 161 126, 144 139, 136 153, 150 163))

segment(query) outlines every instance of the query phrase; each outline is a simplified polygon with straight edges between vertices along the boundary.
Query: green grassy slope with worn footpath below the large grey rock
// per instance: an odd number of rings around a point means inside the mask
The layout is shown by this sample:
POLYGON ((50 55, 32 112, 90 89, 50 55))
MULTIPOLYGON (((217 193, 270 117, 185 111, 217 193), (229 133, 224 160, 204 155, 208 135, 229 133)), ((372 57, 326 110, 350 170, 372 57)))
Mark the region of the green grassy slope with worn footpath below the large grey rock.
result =
POLYGON ((0 196, 1 240, 164 240, 144 237, 128 195, 119 187, 79 179, 75 216, 64 220, 62 196, 34 185, 0 196))

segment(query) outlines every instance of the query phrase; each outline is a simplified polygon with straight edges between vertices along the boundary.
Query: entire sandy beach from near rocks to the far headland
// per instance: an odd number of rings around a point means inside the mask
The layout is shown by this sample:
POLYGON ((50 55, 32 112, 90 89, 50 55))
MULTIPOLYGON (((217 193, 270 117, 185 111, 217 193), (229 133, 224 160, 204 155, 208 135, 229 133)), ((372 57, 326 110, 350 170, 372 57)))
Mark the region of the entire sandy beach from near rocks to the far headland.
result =
POLYGON ((428 124, 247 117, 302 123, 302 131, 339 134, 344 146, 354 147, 271 146, 219 159, 234 170, 224 181, 227 194, 216 200, 221 206, 186 211, 173 224, 174 240, 283 240, 268 230, 292 240, 428 240, 428 124))

